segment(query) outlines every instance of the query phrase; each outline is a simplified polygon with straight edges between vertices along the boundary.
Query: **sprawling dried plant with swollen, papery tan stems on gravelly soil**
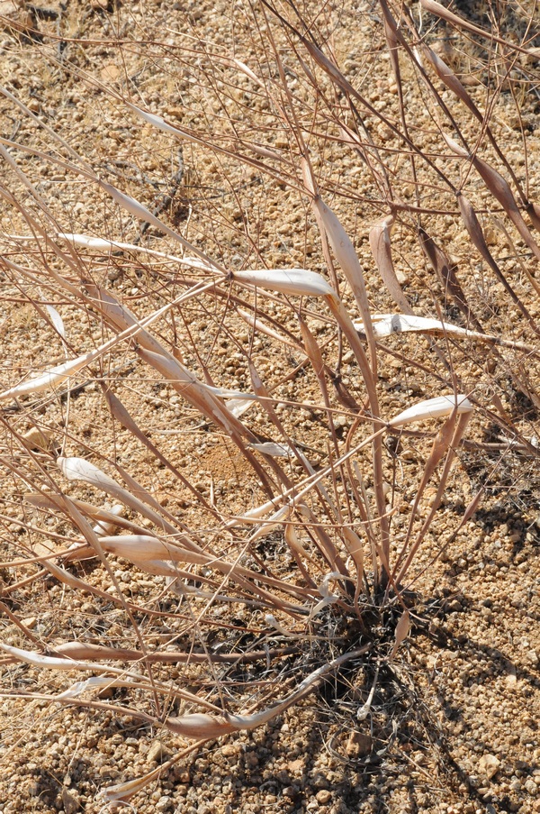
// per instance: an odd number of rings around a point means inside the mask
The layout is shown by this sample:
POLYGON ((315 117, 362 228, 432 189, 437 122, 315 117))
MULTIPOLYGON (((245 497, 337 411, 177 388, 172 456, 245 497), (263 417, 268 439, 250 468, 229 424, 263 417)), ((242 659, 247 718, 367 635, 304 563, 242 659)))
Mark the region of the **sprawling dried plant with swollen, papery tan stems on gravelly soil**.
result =
POLYGON ((480 25, 432 0, 379 0, 358 14, 372 50, 344 58, 336 9, 237 3, 242 48, 203 38, 190 17, 162 42, 136 25, 113 39, 126 72, 108 87, 49 55, 125 116, 141 148, 131 175, 112 156, 93 166, 2 88, 22 120, 0 139, 4 302, 46 339, 2 374, 12 634, 0 648, 4 669, 76 676, 48 694, 32 672, 34 691, 7 694, 131 716, 197 746, 265 724, 345 663, 392 662, 410 634, 410 589, 490 488, 453 469, 472 416, 468 448, 491 455, 495 480, 504 456, 536 456, 530 6, 489 5, 480 25), (180 112, 146 98, 156 70, 185 98, 180 112), (500 147, 503 103, 515 103, 519 167, 500 147), (153 198, 140 156, 163 143, 180 164, 153 198), (218 194, 197 178, 204 162, 218 194), (38 163, 62 188, 90 190, 85 232, 61 191, 36 183, 38 163), (302 218, 272 235, 292 200, 302 218), (412 386, 392 400, 401 369, 412 386), (528 415, 505 407, 509 389, 528 415), (198 477, 186 450, 206 461, 198 477), (464 509, 435 534, 459 479, 464 509), (12 601, 40 582, 112 614, 121 646, 84 625, 70 640, 33 633, 12 601), (113 688, 122 703, 100 695, 113 688))

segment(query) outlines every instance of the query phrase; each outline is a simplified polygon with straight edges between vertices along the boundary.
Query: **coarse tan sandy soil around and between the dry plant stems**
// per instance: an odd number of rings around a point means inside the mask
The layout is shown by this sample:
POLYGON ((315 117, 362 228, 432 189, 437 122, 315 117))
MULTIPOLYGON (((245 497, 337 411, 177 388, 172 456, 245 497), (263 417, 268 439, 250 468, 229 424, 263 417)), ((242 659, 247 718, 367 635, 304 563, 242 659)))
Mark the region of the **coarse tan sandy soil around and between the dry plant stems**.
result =
MULTIPOLYGON (((463 6, 460 4, 460 9, 466 12, 463 6)), ((516 4, 517 37, 522 33, 519 14, 524 13, 525 6, 516 4)), ((471 19, 485 25, 487 11, 482 8, 479 5, 471 19)), ((194 3, 189 8, 159 2, 113 7, 105 0, 85 4, 68 0, 66 5, 51 2, 41 7, 14 6, 11 0, 0 0, 0 14, 4 15, 0 33, 4 86, 28 105, 41 123, 66 139, 100 177, 138 197, 148 208, 159 209, 166 224, 226 268, 238 270, 264 262, 267 266, 301 266, 328 273, 314 217, 295 184, 287 187, 262 174, 255 165, 235 162, 193 142, 175 141, 141 122, 121 100, 103 90, 109 87, 124 99, 144 103, 178 126, 214 133, 217 146, 225 143, 226 133, 229 142, 234 138, 241 151, 243 140, 255 138, 256 133, 262 147, 288 156, 291 142, 284 125, 253 83, 237 70, 236 85, 229 86, 222 81, 226 77, 213 72, 213 52, 234 54, 263 72, 270 64, 267 53, 257 53, 260 32, 250 22, 247 4, 217 0, 194 3), (202 56, 202 41, 211 43, 206 57, 202 56), (203 80, 216 85, 205 85, 203 80), (225 116, 227 111, 234 128, 225 116)), ((377 111, 397 119, 397 91, 379 16, 378 6, 347 2, 325 6, 319 20, 314 15, 313 27, 331 31, 329 45, 347 78, 362 88, 377 111), (378 32, 376 36, 374 32, 378 32)), ((311 14, 308 17, 311 19, 311 14)), ((261 14, 257 20, 262 24, 261 14)), ((435 18, 427 16, 424 24, 428 30, 435 25, 435 18)), ((540 201, 538 83, 535 87, 524 81, 516 99, 502 83, 497 84, 499 78, 478 76, 474 47, 480 53, 480 45, 469 43, 465 47, 454 30, 440 24, 429 35, 482 108, 492 88, 501 88, 491 127, 520 179, 527 167, 530 196, 540 201)), ((292 51, 280 43, 293 71, 292 51)), ((422 103, 422 87, 406 69, 403 81, 408 111, 416 115, 415 136, 425 150, 433 148, 437 153, 440 148, 434 136, 432 141, 434 113, 422 103)), ((301 98, 302 81, 292 87, 301 98)), ((453 105, 453 114, 462 116, 464 133, 473 141, 477 123, 461 112, 448 91, 441 92, 453 105)), ((309 101, 309 96, 305 98, 309 101)), ((335 99, 336 105, 341 102, 335 99)), ((67 156, 48 133, 5 97, 0 98, 0 116, 4 138, 67 156)), ((398 147, 384 123, 373 115, 366 121, 389 150, 398 147)), ((374 312, 395 310, 368 242, 370 226, 388 214, 378 203, 372 178, 354 151, 343 144, 326 142, 316 155, 318 145, 313 136, 311 146, 321 187, 365 265, 370 304, 374 312)), ((139 221, 121 213, 110 197, 85 178, 76 178, 40 156, 14 154, 54 212, 58 231, 126 242, 140 240, 157 251, 178 252, 178 246, 152 226, 141 233, 139 221)), ((486 146, 483 154, 493 159, 491 148, 486 146)), ((404 164, 396 158, 392 171, 401 184, 402 199, 413 202, 413 184, 410 178, 406 180, 410 170, 403 169, 404 164)), ((448 165, 453 177, 464 174, 457 160, 447 159, 445 167, 448 165)), ((420 174, 423 171, 419 169, 420 174)), ((30 191, 5 162, 0 177, 18 200, 29 202, 30 191)), ((471 246, 456 214, 455 197, 441 187, 429 187, 430 178, 420 176, 420 182, 424 181, 424 206, 438 213, 429 215, 430 229, 453 257, 467 298, 482 316, 483 330, 537 347, 537 335, 471 246)), ((535 288, 516 252, 537 279, 534 259, 510 225, 511 240, 500 229, 500 211, 488 201, 478 179, 472 179, 470 185, 479 211, 484 206, 482 224, 492 252, 530 314, 540 316, 535 288)), ((21 261, 23 250, 17 257, 13 242, 4 235, 27 233, 28 226, 14 206, 4 207, 0 221, 5 256, 21 261)), ((414 218, 410 223, 414 224, 414 218)), ((448 321, 464 325, 463 314, 451 297, 446 297, 407 223, 396 225, 392 248, 399 279, 415 312, 437 316, 437 303, 448 321)), ((175 297, 181 290, 170 268, 162 268, 158 261, 146 261, 139 255, 134 261, 130 254, 97 258, 92 270, 95 277, 140 315, 146 313, 148 302, 163 305, 167 297, 175 297)), ((27 259, 37 263, 30 250, 27 259)), ((338 275, 347 305, 355 312, 340 271, 338 275)), ((2 389, 7 389, 29 370, 62 361, 63 349, 53 326, 29 303, 29 296, 38 296, 35 286, 24 279, 17 282, 13 273, 5 274, 2 280, 0 377, 2 389)), ((45 283, 40 278, 40 284, 45 283)), ((102 326, 93 322, 84 308, 77 310, 58 301, 55 306, 74 352, 85 352, 104 341, 102 326)), ((266 313, 276 325, 298 334, 294 312, 283 302, 270 303, 266 313)), ((330 364, 336 360, 337 345, 322 308, 313 306, 310 325, 321 344, 328 342, 325 352, 330 364)), ((177 343, 184 362, 193 369, 200 370, 203 358, 220 386, 251 388, 245 359, 239 352, 249 343, 250 333, 246 324, 230 314, 227 301, 216 305, 215 299, 201 297, 186 306, 176 322, 163 327, 163 332, 177 343)), ((443 341, 439 344, 445 349, 443 341)), ((385 346, 380 367, 385 415, 395 415, 408 407, 411 399, 438 395, 437 388, 442 385, 432 371, 440 377, 446 377, 447 371, 429 339, 394 336, 385 340, 385 346), (422 364, 427 366, 424 370, 419 367, 422 364)), ((299 372, 302 360, 294 350, 286 351, 264 336, 256 340, 251 352, 275 398, 302 403, 320 399, 317 380, 309 370, 301 368, 299 372)), ((141 725, 129 714, 112 716, 102 709, 17 698, 16 693, 23 691, 53 695, 76 679, 70 674, 66 681, 61 673, 40 672, 5 658, 0 663, 4 691, 0 700, 0 812, 105 811, 100 797, 104 788, 161 764, 163 771, 130 800, 140 814, 540 811, 540 476, 531 450, 512 448, 500 425, 492 420, 493 416, 510 416, 521 436, 537 446, 538 405, 518 390, 512 376, 520 377, 524 389, 529 385, 534 390, 540 368, 533 356, 524 362, 519 352, 500 349, 496 355, 490 349, 479 350, 472 341, 453 349, 452 363, 464 387, 485 409, 482 412, 479 408, 474 419, 470 444, 460 451, 459 465, 419 556, 412 586, 413 624, 392 664, 388 655, 395 619, 389 616, 382 620, 378 632, 378 659, 348 665, 319 691, 266 726, 211 742, 169 765, 173 756, 187 751, 188 744, 181 738, 141 725), (467 500, 482 483, 487 489, 481 508, 433 562, 440 541, 458 526, 467 500), (358 710, 374 681, 373 707, 365 719, 359 719, 358 710)), ((204 498, 217 501, 220 510, 230 516, 265 499, 234 445, 223 435, 209 432, 201 416, 186 407, 163 381, 149 378, 148 369, 131 347, 117 355, 112 370, 105 372, 116 395, 144 426, 147 437, 166 450, 170 462, 204 498)), ((341 372, 349 393, 362 401, 356 364, 347 352, 341 372)), ((42 399, 40 425, 48 429, 49 442, 32 442, 28 453, 13 451, 9 432, 29 432, 28 416, 35 402, 23 400, 20 410, 7 406, 4 410, 0 629, 1 640, 7 645, 42 649, 74 639, 133 645, 123 611, 113 603, 70 590, 53 576, 17 587, 35 573, 36 566, 6 567, 7 562, 29 551, 49 553, 40 548, 43 543, 33 539, 26 525, 38 520, 23 508, 19 476, 30 477, 38 464, 40 471, 48 471, 60 447, 63 454, 93 454, 96 463, 110 465, 113 461, 129 470, 152 489, 169 512, 182 517, 185 526, 204 532, 205 524, 210 523, 210 515, 202 512, 189 487, 112 421, 98 384, 83 380, 80 385, 69 400, 68 415, 65 399, 42 399), (8 458, 17 463, 18 474, 5 465, 8 458)), ((329 434, 320 413, 283 407, 280 417, 310 451, 311 461, 323 462, 329 434)), ((337 425, 341 441, 352 425, 350 412, 338 410, 337 425)), ((257 414, 253 426, 261 437, 272 432, 264 415, 257 414)), ((399 495, 396 502, 401 506, 398 529, 408 522, 415 479, 429 445, 426 439, 410 436, 402 440, 397 458, 389 455, 388 478, 394 480, 399 495)), ((70 494, 95 499, 90 487, 73 487, 70 494)), ((434 494, 435 489, 428 491, 420 508, 424 517, 434 494)), ((49 521, 49 531, 58 535, 54 543, 58 546, 66 544, 71 534, 67 524, 58 520, 49 521)), ((292 567, 278 534, 261 543, 257 553, 271 561, 278 574, 286 574, 292 567)), ((122 560, 112 560, 112 565, 126 596, 148 611, 138 617, 141 629, 148 632, 148 641, 168 643, 180 637, 180 644, 189 642, 183 623, 175 619, 175 610, 182 609, 180 600, 166 594, 165 578, 140 572, 122 560)), ((72 572, 113 594, 111 575, 96 561, 76 563, 72 572)), ((223 629, 211 628, 208 636, 205 634, 205 646, 226 646, 228 651, 267 646, 274 640, 263 616, 241 606, 228 610, 221 616, 223 629)), ((238 668, 238 681, 253 682, 254 697, 264 690, 269 677, 279 675, 289 686, 292 679, 305 674, 309 664, 317 666, 318 658, 337 654, 339 643, 349 636, 347 624, 337 612, 329 611, 317 636, 305 630, 298 652, 284 656, 273 672, 266 672, 264 662, 247 663, 238 668)), ((194 638, 195 649, 197 645, 194 638)), ((172 684, 186 680, 182 666, 158 668, 156 675, 172 684)), ((190 681, 196 685, 195 673, 190 681)), ((200 686, 206 687, 203 681, 207 679, 202 678, 200 686)), ((103 691, 100 700, 121 705, 122 692, 103 691)))

